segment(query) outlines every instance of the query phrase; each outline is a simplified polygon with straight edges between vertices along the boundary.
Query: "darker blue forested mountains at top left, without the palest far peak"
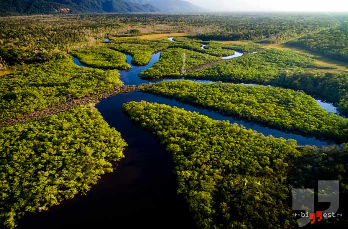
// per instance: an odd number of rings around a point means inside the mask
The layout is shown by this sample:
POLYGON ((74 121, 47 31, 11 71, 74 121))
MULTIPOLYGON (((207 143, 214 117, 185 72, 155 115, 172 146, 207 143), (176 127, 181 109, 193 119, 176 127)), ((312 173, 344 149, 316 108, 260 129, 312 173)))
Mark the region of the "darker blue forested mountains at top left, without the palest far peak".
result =
POLYGON ((153 5, 129 0, 0 0, 0 15, 158 12, 153 5))

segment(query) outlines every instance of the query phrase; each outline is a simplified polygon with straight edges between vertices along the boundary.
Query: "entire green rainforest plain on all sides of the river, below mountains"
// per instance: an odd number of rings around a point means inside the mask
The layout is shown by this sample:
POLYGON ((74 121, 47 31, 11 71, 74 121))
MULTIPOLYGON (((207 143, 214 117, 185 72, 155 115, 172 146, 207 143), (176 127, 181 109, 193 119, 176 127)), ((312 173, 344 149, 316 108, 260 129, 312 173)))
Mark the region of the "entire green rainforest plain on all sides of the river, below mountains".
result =
MULTIPOLYGON (((287 44, 343 60, 347 18, 319 13, 0 17, 1 226, 13 228, 26 212, 85 194, 101 175, 112 172, 111 163, 123 157, 126 143, 94 105, 79 104, 90 96, 111 96, 119 88, 346 143, 347 119, 327 113, 309 95, 348 115, 348 72, 320 65, 314 54, 276 49, 276 43, 291 40, 287 44), (168 33, 176 34, 174 42, 168 33), (111 41, 104 43, 105 38, 111 41), (265 49, 269 43, 275 49, 265 49), (124 54, 132 56, 133 64, 146 65, 158 51, 159 61, 142 71, 143 79, 224 83, 123 86, 120 77, 127 71, 119 70, 130 67, 124 54), (222 60, 236 51, 244 55, 222 60), (89 67, 74 64, 73 56, 89 67), (67 103, 72 105, 65 112, 29 116, 67 103)), ((127 103, 123 111, 154 133, 173 157, 178 192, 197 228, 292 228, 291 188, 315 189, 318 179, 340 180, 341 203, 346 202, 346 144, 299 146, 294 140, 146 102, 127 103)), ((343 207, 340 211, 348 214, 343 207)), ((346 225, 344 219, 325 219, 318 228, 346 225)))

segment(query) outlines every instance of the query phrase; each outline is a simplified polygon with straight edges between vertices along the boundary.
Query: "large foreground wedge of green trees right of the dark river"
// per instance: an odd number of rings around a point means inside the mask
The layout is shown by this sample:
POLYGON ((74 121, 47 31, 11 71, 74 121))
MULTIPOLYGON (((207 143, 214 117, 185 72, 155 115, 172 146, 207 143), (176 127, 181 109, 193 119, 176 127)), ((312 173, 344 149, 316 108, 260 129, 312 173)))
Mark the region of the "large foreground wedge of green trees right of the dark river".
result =
POLYGON ((340 195, 346 198, 346 146, 343 151, 297 146, 164 104, 129 102, 123 110, 172 155, 178 193, 198 228, 293 228, 291 184, 307 185, 328 174, 342 179, 340 195), (328 157, 330 163, 324 160, 328 157))

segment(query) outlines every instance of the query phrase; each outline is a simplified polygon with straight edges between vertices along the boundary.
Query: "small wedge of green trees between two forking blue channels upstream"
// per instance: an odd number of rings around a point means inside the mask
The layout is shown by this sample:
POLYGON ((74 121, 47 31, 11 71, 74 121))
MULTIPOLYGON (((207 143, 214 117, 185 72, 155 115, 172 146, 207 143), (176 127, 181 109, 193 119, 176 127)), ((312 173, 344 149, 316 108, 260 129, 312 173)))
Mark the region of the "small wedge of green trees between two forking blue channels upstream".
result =
POLYGON ((132 63, 145 65, 150 61, 153 53, 169 47, 169 42, 168 40, 119 39, 113 40, 109 47, 132 55, 132 63))

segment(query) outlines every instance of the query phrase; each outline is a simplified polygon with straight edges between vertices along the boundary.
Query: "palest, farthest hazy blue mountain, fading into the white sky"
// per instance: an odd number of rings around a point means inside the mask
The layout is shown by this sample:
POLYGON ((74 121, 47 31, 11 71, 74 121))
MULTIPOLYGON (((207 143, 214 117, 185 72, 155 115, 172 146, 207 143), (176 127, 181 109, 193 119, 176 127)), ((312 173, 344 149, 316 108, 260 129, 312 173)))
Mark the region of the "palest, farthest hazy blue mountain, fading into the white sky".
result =
POLYGON ((162 12, 198 12, 204 11, 199 6, 182 0, 128 0, 137 4, 150 4, 162 12))

